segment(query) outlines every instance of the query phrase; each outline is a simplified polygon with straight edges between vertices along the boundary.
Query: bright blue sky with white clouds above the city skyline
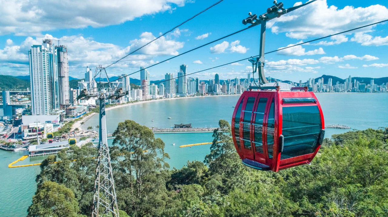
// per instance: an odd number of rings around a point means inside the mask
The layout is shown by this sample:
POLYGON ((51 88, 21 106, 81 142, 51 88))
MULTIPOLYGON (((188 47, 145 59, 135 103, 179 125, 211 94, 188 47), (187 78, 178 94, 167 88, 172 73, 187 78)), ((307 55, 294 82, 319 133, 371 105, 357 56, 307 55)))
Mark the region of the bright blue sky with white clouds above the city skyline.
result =
MULTIPOLYGON (((28 50, 43 38, 68 46, 69 74, 83 78, 86 67, 107 66, 217 1, 0 0, 0 74, 28 75, 28 50)), ((300 4, 284 0, 284 7, 300 4)), ((303 1, 305 3, 306 1, 303 1)), ((107 68, 109 75, 132 73, 173 55, 243 29, 241 21, 263 14, 272 0, 241 3, 223 0, 170 34, 107 68)), ((388 2, 318 0, 267 24, 265 51, 320 38, 388 19, 388 2)), ((388 22, 345 35, 296 46, 265 56, 267 76, 307 80, 322 74, 340 78, 388 76, 388 22)), ((260 26, 149 68, 151 80, 177 75, 185 63, 188 73, 258 55, 260 26)), ((194 77, 246 78, 248 61, 227 65, 194 77)), ((130 77, 139 79, 140 74, 130 77)))

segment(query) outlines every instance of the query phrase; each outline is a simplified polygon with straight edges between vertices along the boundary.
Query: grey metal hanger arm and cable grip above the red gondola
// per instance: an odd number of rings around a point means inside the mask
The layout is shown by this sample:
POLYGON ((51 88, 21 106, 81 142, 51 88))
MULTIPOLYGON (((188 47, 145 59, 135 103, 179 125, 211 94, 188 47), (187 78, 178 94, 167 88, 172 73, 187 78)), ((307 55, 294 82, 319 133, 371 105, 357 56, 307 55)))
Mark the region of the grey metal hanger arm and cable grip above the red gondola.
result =
POLYGON ((276 17, 281 17, 281 15, 287 14, 295 9, 298 9, 300 7, 303 7, 305 5, 308 5, 312 2, 315 2, 317 0, 312 0, 310 2, 291 7, 288 9, 283 8, 283 3, 277 3, 276 0, 274 0, 274 6, 267 9, 267 12, 257 16, 256 14, 253 14, 251 12, 248 13, 249 17, 242 20, 242 24, 251 24, 252 26, 256 25, 262 25, 260 29, 260 50, 259 50, 259 56, 253 59, 250 59, 249 62, 252 63, 253 68, 253 75, 257 71, 257 68, 259 70, 259 85, 261 84, 268 84, 268 80, 265 78, 264 74, 264 48, 265 48, 265 30, 267 21, 270 21, 276 17))

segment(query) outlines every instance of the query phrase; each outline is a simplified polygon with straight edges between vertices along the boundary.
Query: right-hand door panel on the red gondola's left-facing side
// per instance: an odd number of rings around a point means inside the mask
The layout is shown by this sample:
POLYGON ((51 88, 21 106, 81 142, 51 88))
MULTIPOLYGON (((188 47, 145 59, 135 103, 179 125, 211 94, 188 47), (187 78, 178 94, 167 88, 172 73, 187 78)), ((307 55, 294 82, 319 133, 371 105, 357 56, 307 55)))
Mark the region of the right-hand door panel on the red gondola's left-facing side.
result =
MULTIPOLYGON (((273 111, 270 113, 270 108, 273 102, 274 94, 272 92, 266 93, 260 91, 256 99, 255 109, 253 111, 252 125, 253 125, 253 135, 252 135, 252 145, 255 151, 255 161, 261 164, 270 166, 272 162, 268 157, 268 146, 267 146, 267 135, 273 137, 273 130, 271 131, 272 125, 270 125, 270 133, 267 134, 268 128, 268 117, 270 118, 270 123, 273 121, 273 111)), ((273 144, 273 143, 272 143, 273 144)), ((273 145, 270 144, 270 148, 273 145)), ((271 150, 270 150, 271 152, 271 150)), ((271 153, 270 153, 271 154, 271 153)))

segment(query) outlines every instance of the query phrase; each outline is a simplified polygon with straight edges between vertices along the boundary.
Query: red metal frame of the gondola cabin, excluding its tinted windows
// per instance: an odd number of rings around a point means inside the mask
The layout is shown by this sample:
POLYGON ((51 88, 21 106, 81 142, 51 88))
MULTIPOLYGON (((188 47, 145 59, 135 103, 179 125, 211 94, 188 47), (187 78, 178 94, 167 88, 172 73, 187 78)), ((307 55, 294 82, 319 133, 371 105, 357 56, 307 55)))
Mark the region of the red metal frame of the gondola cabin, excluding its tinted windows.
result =
POLYGON ((317 97, 313 92, 282 92, 282 91, 247 91, 242 94, 242 97, 237 102, 233 116, 232 116, 232 135, 235 135, 235 118, 236 113, 238 111, 239 104, 242 101, 242 107, 240 110, 240 120, 239 120, 239 139, 240 139, 240 148, 237 146, 236 138, 233 137, 234 144, 236 147, 236 150, 238 150, 238 154, 241 159, 249 159, 255 162, 259 162, 261 164, 265 164, 270 167, 272 171, 279 171, 282 169, 287 169, 294 166, 299 166, 302 164, 309 164, 312 159, 317 154, 320 145, 318 144, 315 147, 314 153, 311 154, 305 154, 300 155, 297 157, 291 157, 287 159, 281 159, 281 152, 279 151, 279 136, 282 134, 282 109, 283 107, 288 106, 318 106, 319 114, 320 114, 320 120, 321 120, 321 128, 324 130, 324 118, 322 113, 322 108, 320 107, 320 104, 317 100, 317 97), (267 104, 265 107, 265 114, 263 117, 263 128, 262 128, 262 144, 263 144, 263 153, 256 152, 256 147, 253 144, 254 138, 255 138, 255 129, 253 126, 254 120, 256 118, 256 114, 252 112, 251 116, 251 125, 250 125, 250 145, 252 150, 248 150, 244 148, 244 140, 241 140, 243 138, 243 125, 242 121, 244 119, 244 113, 242 112, 246 108, 246 103, 248 101, 248 97, 255 97, 255 102, 253 105, 252 111, 256 111, 258 107, 258 103, 260 98, 267 98, 267 104), (307 103, 294 103, 289 105, 283 105, 282 99, 288 98, 288 97, 313 97, 315 99, 314 104, 307 104, 307 103), (272 103, 272 99, 274 99, 274 146, 273 146, 273 157, 272 159, 269 158, 268 155, 268 141, 267 141, 267 132, 268 132, 268 116, 270 113, 270 106, 272 103))

